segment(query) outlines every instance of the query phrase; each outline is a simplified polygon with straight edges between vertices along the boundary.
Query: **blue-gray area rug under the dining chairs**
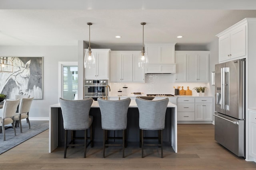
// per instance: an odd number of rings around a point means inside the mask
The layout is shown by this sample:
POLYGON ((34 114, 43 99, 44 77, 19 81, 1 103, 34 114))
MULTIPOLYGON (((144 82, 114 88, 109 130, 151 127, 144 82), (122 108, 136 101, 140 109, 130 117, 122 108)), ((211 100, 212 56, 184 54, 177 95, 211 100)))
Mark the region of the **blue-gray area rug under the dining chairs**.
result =
POLYGON ((5 129, 6 141, 3 141, 4 135, 3 133, 0 133, 0 154, 49 129, 48 121, 34 121, 30 122, 30 125, 31 128, 29 129, 28 123, 22 122, 22 133, 20 133, 20 127, 16 127, 16 136, 14 136, 12 127, 5 129))

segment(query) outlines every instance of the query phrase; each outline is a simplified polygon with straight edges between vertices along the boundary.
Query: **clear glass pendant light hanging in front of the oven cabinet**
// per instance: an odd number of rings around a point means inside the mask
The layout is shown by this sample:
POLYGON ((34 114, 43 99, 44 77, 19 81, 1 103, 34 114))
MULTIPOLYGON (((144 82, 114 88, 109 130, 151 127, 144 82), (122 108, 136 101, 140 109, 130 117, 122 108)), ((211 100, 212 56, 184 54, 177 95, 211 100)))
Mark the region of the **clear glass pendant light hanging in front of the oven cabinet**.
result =
POLYGON ((84 55, 84 68, 93 68, 95 66, 95 58, 92 53, 91 44, 90 44, 90 25, 92 25, 92 23, 88 22, 87 25, 89 25, 89 47, 88 47, 88 51, 86 51, 84 55))

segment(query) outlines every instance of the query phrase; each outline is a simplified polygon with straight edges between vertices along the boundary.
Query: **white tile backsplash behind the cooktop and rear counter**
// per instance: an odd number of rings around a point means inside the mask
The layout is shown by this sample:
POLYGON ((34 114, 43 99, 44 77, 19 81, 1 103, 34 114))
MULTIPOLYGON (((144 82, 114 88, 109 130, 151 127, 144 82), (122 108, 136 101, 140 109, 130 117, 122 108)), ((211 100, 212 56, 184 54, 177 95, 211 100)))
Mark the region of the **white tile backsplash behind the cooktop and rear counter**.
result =
MULTIPOLYGON (((173 86, 184 86, 184 90, 192 90, 192 94, 195 92, 194 87, 197 86, 209 86, 209 83, 175 83, 175 74, 146 74, 145 83, 136 83, 136 82, 110 82, 111 91, 109 92, 110 96, 117 96, 117 91, 123 89, 126 85, 128 95, 131 95, 133 92, 142 92, 146 94, 174 94, 173 86)), ((180 88, 181 89, 181 88, 180 88)), ((209 93, 210 94, 210 93, 209 93)), ((207 90, 206 90, 206 95, 207 90)))

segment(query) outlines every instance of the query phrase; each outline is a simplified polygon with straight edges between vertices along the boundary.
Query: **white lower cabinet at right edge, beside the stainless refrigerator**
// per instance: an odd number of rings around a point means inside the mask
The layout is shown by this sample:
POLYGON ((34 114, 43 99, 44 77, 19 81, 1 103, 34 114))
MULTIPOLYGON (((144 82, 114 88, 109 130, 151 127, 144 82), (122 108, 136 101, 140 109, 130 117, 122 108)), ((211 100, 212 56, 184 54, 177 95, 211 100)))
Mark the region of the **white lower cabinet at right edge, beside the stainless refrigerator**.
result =
POLYGON ((249 160, 256 162, 256 110, 249 110, 249 160))

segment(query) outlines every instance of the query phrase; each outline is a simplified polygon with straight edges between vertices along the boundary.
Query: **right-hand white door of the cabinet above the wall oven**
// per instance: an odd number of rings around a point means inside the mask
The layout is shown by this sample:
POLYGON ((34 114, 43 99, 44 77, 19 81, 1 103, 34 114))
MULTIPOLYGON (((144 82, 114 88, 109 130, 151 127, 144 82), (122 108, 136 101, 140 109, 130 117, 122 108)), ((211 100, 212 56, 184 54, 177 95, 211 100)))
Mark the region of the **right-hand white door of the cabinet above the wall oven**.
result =
POLYGON ((97 78, 108 79, 108 54, 97 53, 97 78))

